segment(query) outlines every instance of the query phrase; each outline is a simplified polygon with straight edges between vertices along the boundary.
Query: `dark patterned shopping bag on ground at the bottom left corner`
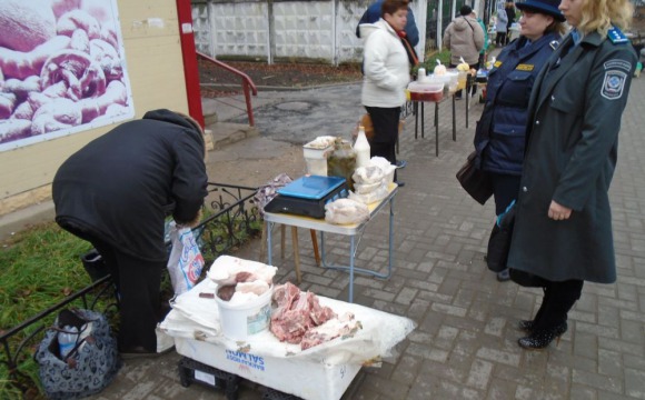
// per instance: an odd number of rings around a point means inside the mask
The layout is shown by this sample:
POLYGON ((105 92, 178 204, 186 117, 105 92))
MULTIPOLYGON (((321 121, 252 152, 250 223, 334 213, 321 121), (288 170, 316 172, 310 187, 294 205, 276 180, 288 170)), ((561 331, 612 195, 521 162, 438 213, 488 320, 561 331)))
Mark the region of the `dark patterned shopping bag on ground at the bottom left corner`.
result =
POLYGON ((33 356, 48 399, 80 399, 100 392, 117 376, 121 362, 106 316, 90 310, 62 310, 33 356), (59 332, 76 327, 79 336, 61 358, 59 332))

